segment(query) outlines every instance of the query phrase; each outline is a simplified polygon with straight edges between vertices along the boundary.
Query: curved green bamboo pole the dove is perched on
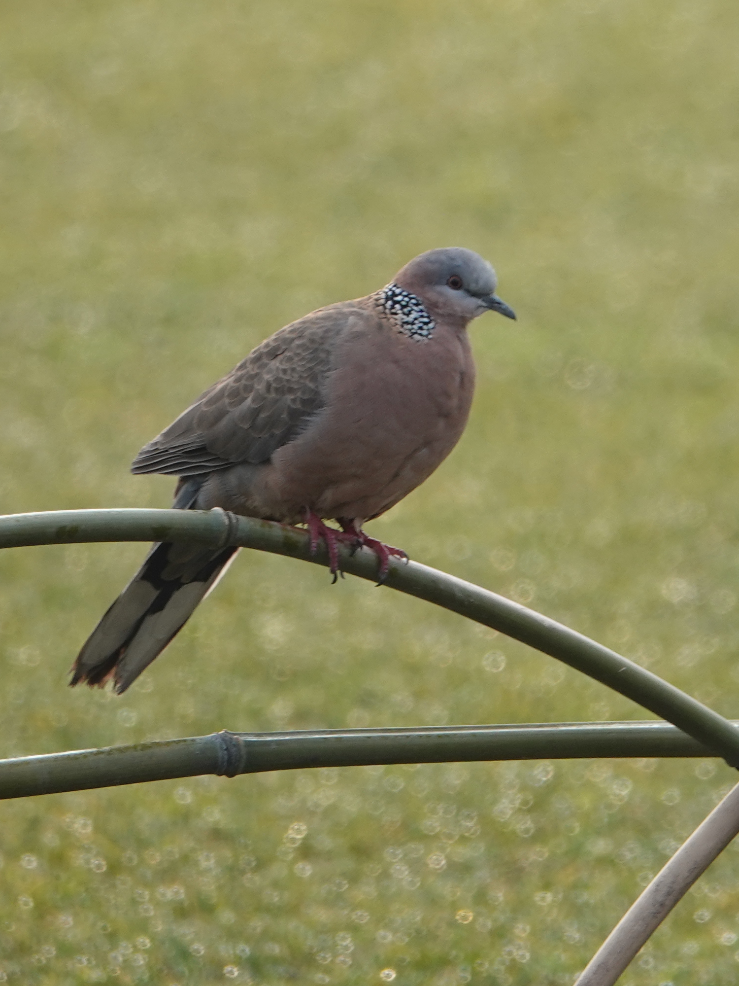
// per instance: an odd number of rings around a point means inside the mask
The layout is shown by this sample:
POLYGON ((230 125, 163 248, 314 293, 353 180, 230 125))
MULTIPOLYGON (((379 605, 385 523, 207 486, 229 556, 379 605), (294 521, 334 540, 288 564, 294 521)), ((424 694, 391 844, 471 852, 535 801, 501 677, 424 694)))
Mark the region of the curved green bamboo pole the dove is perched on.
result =
MULTIPOLYGON (((304 530, 220 510, 74 510, 0 518, 0 547, 165 539, 197 540, 214 547, 237 544, 321 565, 328 563, 323 546, 311 557, 304 530)), ((362 549, 352 555, 342 548, 340 555, 344 571, 362 579, 376 578, 377 559, 371 551, 362 549)), ((561 623, 416 562, 393 560, 386 585, 500 630, 557 658, 671 722, 720 753, 732 766, 739 766, 739 730, 728 720, 651 671, 561 623)))

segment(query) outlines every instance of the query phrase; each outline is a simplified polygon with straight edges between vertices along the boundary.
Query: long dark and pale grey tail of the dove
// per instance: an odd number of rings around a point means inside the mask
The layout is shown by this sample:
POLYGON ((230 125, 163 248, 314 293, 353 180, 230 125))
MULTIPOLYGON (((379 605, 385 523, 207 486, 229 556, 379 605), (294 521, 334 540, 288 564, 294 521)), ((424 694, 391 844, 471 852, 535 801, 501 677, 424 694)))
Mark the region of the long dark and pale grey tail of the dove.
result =
MULTIPOLYGON (((185 492, 182 490, 182 492, 185 492)), ((190 491, 188 491, 190 492, 190 491)), ((177 496, 187 509, 194 495, 177 496)), ((104 685, 120 695, 167 647, 197 604, 215 588, 238 549, 197 544, 155 544, 141 569, 93 630, 72 668, 71 685, 104 685)))

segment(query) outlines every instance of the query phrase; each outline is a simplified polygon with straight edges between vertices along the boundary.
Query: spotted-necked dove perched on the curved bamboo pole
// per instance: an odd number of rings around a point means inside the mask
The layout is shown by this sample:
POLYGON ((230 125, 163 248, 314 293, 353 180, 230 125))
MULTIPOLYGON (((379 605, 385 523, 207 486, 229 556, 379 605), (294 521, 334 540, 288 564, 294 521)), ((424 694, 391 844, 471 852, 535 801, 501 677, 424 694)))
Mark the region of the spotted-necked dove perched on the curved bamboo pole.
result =
MULTIPOLYGON (((427 479, 462 435, 475 384, 467 326, 486 312, 515 318, 497 287, 491 264, 470 249, 421 253, 379 291, 260 343, 145 445, 131 471, 176 476, 177 510, 306 525, 311 552, 325 542, 334 581, 339 544, 367 546, 381 583, 390 559, 407 555, 363 526, 427 479)), ((153 545, 82 647, 70 684, 112 678, 124 692, 236 551, 153 545)))

